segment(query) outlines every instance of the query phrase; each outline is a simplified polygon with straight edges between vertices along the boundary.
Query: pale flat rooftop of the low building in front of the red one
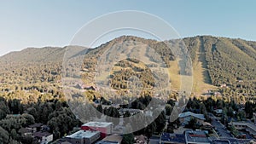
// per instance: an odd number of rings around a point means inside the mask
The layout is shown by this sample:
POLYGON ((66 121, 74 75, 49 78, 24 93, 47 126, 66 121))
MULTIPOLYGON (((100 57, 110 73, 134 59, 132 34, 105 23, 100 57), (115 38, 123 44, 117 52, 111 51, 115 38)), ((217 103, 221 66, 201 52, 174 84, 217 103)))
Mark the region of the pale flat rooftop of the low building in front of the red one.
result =
POLYGON ((73 138, 73 139, 83 139, 83 138, 90 138, 96 134, 100 134, 99 131, 91 131, 91 130, 79 130, 76 133, 73 133, 72 135, 67 135, 67 138, 73 138))

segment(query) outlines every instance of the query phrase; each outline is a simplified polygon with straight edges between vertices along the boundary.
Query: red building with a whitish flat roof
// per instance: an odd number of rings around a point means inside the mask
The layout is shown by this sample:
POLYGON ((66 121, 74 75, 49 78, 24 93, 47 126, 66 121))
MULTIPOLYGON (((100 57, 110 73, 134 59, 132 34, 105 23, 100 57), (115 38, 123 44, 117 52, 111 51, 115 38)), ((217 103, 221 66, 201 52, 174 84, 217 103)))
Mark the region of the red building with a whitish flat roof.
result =
POLYGON ((112 135, 113 123, 89 122, 81 126, 81 130, 96 130, 101 132, 101 138, 112 135))

